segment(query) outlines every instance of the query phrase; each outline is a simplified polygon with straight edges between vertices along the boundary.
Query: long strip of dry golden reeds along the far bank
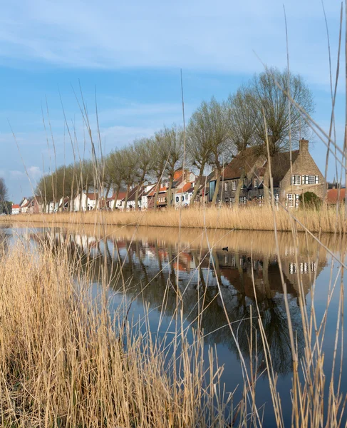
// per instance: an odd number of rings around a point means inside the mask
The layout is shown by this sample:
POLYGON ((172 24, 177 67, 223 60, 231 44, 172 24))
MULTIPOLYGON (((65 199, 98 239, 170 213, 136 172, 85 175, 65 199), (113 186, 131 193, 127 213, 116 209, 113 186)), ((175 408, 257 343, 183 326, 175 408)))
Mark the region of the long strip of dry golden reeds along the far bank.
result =
MULTIPOLYGON (((312 233, 347 233, 344 207, 275 211, 276 229, 291 231, 309 230, 312 233), (297 220, 297 221, 296 221, 297 220), (301 226, 303 225, 303 226, 301 226)), ((140 225, 173 228, 207 228, 235 230, 274 230, 274 213, 271 207, 238 208, 185 208, 182 210, 97 211, 87 213, 20 214, 0 217, 0 222, 46 223, 49 225, 96 224, 140 225)))

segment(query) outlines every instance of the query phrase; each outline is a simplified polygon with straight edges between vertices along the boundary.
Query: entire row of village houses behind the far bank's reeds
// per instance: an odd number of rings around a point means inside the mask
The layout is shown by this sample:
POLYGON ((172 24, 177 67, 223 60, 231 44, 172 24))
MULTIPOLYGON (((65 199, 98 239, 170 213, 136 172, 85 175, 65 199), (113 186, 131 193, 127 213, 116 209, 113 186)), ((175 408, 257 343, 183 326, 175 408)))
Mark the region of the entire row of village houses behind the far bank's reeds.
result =
MULTIPOLYGON (((264 175, 268 169, 266 156, 259 155, 256 148, 247 148, 235 156, 224 167, 220 177, 217 203, 234 205, 235 203, 263 203, 264 202, 264 175), (238 195, 238 196, 237 196, 238 195)), ((309 141, 301 139, 299 150, 277 153, 271 163, 271 175, 274 186, 274 199, 281 201, 288 208, 299 206, 299 195, 312 192, 323 198, 327 191, 326 181, 318 169, 314 159, 309 153, 309 141)), ((195 190, 197 176, 190 170, 177 170, 172 183, 172 206, 180 208, 190 204, 195 190)), ((197 190, 197 203, 210 203, 212 201, 217 181, 217 173, 212 171, 203 177, 197 190)), ((157 207, 167 206, 169 180, 161 183, 147 183, 140 188, 133 186, 128 194, 125 207, 125 191, 109 198, 98 197, 98 193, 80 193, 76 195, 73 203, 70 198, 61 198, 56 203, 50 202, 44 207, 41 196, 23 198, 19 205, 14 205, 12 213, 53 213, 63 210, 94 210, 98 209, 135 209, 135 195, 138 193, 138 208, 142 210, 154 207, 155 193, 157 207)), ((345 196, 345 189, 340 190, 340 198, 345 196)), ((328 190, 327 200, 336 203, 336 189, 328 190)))

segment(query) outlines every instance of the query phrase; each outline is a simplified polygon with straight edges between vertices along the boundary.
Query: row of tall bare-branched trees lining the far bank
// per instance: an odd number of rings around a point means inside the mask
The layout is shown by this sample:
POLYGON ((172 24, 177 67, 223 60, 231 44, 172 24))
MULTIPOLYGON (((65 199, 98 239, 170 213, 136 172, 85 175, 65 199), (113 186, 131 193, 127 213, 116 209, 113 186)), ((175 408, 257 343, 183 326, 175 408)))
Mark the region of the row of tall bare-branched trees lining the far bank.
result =
MULTIPOLYGON (((197 196, 207 166, 216 171, 217 182, 212 203, 217 200, 223 165, 247 147, 256 147, 267 156, 286 151, 299 135, 306 136, 308 126, 297 108, 290 107, 290 95, 306 113, 313 113, 311 91, 299 75, 276 68, 267 69, 240 86, 226 101, 215 98, 203 101, 192 114, 184 134, 180 126, 164 127, 150 138, 135 140, 128 146, 111 151, 102 161, 81 161, 78 165, 58 168, 38 183, 38 194, 46 200, 76 195, 93 187, 111 189, 117 196, 120 188, 143 185, 146 180, 163 176, 169 180, 167 201, 171 203, 172 181, 175 170, 185 166, 197 170, 197 183, 192 203, 197 196)), ((269 177, 265 178, 266 180, 269 177)), ((242 183, 242 180, 239 180, 242 183)), ((239 190, 239 189, 238 189, 239 190)), ((266 199, 266 198, 265 198, 266 199)), ((138 195, 136 195, 135 206, 138 195)), ((154 206, 157 205, 157 193, 154 206)))

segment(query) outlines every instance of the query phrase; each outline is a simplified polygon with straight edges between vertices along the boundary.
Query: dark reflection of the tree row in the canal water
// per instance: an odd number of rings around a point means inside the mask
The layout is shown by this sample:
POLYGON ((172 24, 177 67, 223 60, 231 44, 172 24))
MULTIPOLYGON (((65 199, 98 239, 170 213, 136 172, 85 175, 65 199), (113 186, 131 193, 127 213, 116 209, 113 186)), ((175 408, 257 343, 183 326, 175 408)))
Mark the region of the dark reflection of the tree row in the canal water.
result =
MULTIPOLYGON (((225 327, 227 320, 223 309, 222 302, 224 302, 242 353, 249 357, 249 338, 252 334, 254 344, 257 342, 258 362, 261 363, 264 360, 264 350, 261 344, 257 308, 254 305, 255 285, 261 322, 269 342, 274 370, 280 374, 291 371, 289 332, 284 298, 281 294, 279 266, 275 257, 255 255, 251 259, 249 254, 236 252, 225 254, 214 250, 212 260, 217 272, 217 275, 214 275, 206 250, 185 250, 177 258, 175 245, 163 248, 157 241, 146 243, 141 240, 105 239, 101 240, 103 245, 100 245, 95 238, 88 240, 88 238, 82 239, 77 235, 63 233, 60 233, 59 239, 55 238, 53 241, 51 237, 48 238, 48 235, 46 238, 51 243, 54 242, 53 248, 58 247, 60 243, 68 243, 71 258, 75 260, 80 258, 83 261, 80 264, 82 270, 85 270, 88 265, 90 272, 93 272, 95 282, 100 278, 100 272, 105 273, 107 270, 110 287, 120 290, 123 287, 123 280, 127 282, 132 277, 132 283, 127 290, 128 295, 131 297, 138 295, 141 301, 164 307, 165 315, 169 317, 177 309, 175 287, 178 273, 185 317, 187 322, 195 328, 198 326, 199 319, 199 325, 206 336, 205 342, 221 343, 233 352, 237 352, 232 333, 229 327, 225 327), (120 275, 114 275, 120 264, 123 264, 123 278, 120 275), (222 284, 222 298, 216 287, 217 279, 219 284, 222 284), (168 290, 167 284, 170 284, 168 290), (163 305, 164 299, 165 305, 163 305), (199 305, 198 300, 200 300, 199 305), (249 320, 251 315, 252 325, 249 320)), ((304 335, 300 310, 296 305, 296 287, 287 277, 286 283, 290 293, 291 319, 296 330, 300 355, 304 346, 304 335)))

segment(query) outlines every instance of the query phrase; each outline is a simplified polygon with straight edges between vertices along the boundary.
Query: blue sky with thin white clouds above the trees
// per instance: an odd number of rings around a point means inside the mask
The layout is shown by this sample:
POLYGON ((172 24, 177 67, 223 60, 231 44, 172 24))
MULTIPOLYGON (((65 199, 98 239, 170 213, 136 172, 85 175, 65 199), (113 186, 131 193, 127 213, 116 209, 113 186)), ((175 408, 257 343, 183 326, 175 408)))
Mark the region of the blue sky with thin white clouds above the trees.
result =
MULTIPOLYGON (((328 132, 331 88, 321 0, 11 0, 0 15, 0 176, 9 198, 33 194, 56 165, 90 157, 82 96, 104 153, 185 118, 212 96, 222 101, 266 66, 300 73, 314 119, 328 132), (64 120, 64 115, 66 121, 64 120), (66 126, 66 123, 68 126, 66 126)), ((324 4, 336 75, 341 4, 324 4)), ((343 12, 344 13, 344 12, 343 12)), ((344 31, 344 29, 343 29, 344 31)), ((342 49, 344 51, 344 49, 342 49)), ((344 63, 344 52, 341 55, 344 63)), ((345 123, 344 66, 336 140, 345 123)), ((326 147, 311 138, 324 173, 326 147)), ((328 178, 336 175, 329 163, 328 178)))

